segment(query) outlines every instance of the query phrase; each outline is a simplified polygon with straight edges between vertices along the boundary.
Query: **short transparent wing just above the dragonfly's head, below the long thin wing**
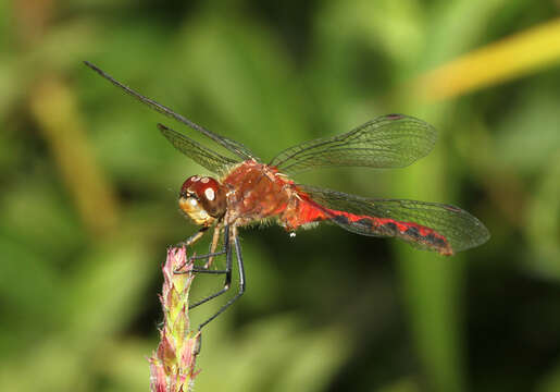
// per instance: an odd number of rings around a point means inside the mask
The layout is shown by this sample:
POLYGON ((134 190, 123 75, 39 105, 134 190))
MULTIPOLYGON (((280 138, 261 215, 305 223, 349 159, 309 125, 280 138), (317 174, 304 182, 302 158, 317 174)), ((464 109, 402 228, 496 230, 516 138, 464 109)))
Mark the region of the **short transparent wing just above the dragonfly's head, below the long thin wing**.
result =
POLYGON ((187 137, 163 124, 158 124, 158 128, 176 149, 191 158, 201 167, 214 173, 224 174, 228 168, 238 163, 236 160, 214 152, 192 140, 190 137, 187 137))

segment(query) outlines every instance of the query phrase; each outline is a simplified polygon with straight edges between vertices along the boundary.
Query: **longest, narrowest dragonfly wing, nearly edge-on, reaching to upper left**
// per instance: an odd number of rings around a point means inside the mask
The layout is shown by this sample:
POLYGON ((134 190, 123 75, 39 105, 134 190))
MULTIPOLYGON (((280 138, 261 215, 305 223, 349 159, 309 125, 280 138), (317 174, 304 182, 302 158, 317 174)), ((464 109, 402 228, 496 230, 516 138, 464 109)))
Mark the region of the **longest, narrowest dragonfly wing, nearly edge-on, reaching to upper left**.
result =
POLYGON ((124 84, 122 84, 121 82, 116 81, 111 75, 109 75, 104 71, 100 70, 96 65, 91 64, 90 62, 84 61, 84 63, 87 66, 89 66, 91 70, 96 71, 99 75, 101 75, 102 77, 104 77, 105 79, 108 79, 109 82, 111 82, 112 84, 114 84, 115 86, 121 88, 122 90, 124 90, 126 94, 128 94, 129 96, 138 99, 140 102, 147 105, 148 107, 150 107, 151 109, 155 110, 157 112, 160 112, 160 113, 165 114, 165 115, 167 115, 167 117, 170 117, 172 119, 175 119, 176 121, 178 121, 178 122, 189 126, 190 128, 200 132, 202 135, 211 138, 212 140, 214 140, 215 143, 220 144, 225 149, 227 149, 232 154, 236 155, 237 157, 241 158, 242 160, 256 159, 256 160, 259 161, 259 159, 245 145, 242 145, 241 143, 232 140, 232 139, 229 139, 227 137, 224 137, 224 136, 219 136, 215 133, 208 131, 203 126, 200 126, 200 125, 194 123, 192 121, 188 120, 187 118, 185 118, 185 117, 183 117, 181 114, 175 113, 170 108, 164 107, 163 105, 158 103, 154 100, 142 96, 141 94, 135 91, 134 89, 132 89, 128 86, 125 86, 124 84))

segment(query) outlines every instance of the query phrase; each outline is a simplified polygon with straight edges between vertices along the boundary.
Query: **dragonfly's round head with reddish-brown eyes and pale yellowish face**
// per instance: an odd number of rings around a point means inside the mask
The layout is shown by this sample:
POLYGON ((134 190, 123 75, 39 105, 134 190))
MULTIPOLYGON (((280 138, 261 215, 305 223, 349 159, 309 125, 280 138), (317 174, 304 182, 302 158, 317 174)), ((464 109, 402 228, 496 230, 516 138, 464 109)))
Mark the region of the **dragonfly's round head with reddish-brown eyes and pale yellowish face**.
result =
POLYGON ((225 213, 224 188, 212 177, 192 175, 181 187, 179 207, 195 223, 209 226, 225 213))

